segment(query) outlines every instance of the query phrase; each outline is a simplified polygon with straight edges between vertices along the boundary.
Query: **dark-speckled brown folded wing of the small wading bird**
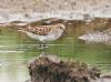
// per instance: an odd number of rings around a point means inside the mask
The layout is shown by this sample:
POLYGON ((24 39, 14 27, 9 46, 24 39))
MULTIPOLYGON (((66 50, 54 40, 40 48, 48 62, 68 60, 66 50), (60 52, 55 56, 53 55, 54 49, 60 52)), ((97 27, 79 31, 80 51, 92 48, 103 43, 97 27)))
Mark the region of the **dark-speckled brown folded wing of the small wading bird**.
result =
POLYGON ((49 25, 30 27, 28 30, 34 34, 47 35, 50 32, 51 27, 49 25))

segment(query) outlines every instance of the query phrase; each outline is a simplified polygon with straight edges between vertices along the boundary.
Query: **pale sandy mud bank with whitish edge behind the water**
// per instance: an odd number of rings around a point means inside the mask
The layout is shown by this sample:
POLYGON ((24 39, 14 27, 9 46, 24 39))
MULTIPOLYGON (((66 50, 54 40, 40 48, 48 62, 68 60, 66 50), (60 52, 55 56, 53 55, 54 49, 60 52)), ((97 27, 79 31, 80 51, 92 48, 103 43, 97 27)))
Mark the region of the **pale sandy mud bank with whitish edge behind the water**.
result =
POLYGON ((110 2, 111 0, 1 0, 0 23, 33 22, 49 18, 67 20, 111 18, 110 2))

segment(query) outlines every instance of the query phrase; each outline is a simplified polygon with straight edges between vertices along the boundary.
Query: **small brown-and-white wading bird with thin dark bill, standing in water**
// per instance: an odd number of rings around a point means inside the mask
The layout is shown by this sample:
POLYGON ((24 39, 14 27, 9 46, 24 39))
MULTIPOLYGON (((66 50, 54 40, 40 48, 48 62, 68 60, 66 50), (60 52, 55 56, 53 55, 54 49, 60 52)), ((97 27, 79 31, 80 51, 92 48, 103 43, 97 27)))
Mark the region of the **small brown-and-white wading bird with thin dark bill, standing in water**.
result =
POLYGON ((27 33, 30 38, 42 42, 42 49, 46 51, 46 42, 59 39, 63 31, 65 32, 65 25, 62 23, 38 27, 28 25, 27 28, 19 29, 18 31, 27 33))

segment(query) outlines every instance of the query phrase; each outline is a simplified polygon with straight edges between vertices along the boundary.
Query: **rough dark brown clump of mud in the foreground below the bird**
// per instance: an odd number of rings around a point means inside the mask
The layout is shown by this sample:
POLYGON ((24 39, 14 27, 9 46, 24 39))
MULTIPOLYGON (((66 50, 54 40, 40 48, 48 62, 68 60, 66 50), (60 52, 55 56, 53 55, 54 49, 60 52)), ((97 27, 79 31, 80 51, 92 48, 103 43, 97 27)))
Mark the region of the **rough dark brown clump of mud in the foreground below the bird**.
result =
POLYGON ((100 70, 80 61, 51 61, 40 57, 29 64, 31 82, 90 82, 100 78, 100 70))

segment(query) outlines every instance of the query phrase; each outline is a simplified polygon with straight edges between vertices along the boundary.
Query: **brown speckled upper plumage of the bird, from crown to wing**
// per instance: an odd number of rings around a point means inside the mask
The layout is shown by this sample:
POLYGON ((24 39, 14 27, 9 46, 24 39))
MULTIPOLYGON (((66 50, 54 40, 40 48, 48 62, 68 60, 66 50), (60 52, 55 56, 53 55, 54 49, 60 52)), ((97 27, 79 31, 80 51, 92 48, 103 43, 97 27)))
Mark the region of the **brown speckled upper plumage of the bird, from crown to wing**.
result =
POLYGON ((58 30, 64 30, 65 27, 61 23, 52 24, 52 25, 38 25, 31 27, 28 25, 28 31, 39 35, 47 35, 49 32, 57 32, 58 30))

